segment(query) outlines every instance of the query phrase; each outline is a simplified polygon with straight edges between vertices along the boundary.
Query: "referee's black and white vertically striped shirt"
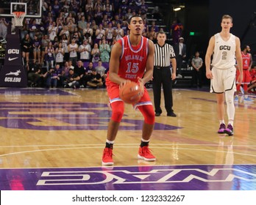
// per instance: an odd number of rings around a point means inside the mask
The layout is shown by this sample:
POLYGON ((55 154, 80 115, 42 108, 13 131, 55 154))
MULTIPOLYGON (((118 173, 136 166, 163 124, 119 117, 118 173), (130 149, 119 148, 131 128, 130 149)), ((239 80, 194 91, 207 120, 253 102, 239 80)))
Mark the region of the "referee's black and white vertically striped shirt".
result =
POLYGON ((163 46, 154 44, 154 66, 168 67, 170 59, 175 58, 174 48, 168 43, 163 46))

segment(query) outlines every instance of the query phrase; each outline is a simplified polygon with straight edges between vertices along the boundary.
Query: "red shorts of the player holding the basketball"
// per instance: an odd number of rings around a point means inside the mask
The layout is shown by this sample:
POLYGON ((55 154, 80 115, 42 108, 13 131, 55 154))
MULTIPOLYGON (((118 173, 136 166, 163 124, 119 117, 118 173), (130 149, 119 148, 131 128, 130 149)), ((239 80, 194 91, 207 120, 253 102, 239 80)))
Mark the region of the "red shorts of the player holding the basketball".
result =
MULTIPOLYGON (((116 102, 116 101, 123 101, 119 97, 119 85, 116 83, 108 83, 107 84, 107 94, 108 97, 110 98, 110 107, 111 104, 116 102)), ((138 106, 142 105, 152 105, 152 101, 150 100, 149 93, 144 87, 144 93, 143 96, 141 97, 141 100, 138 103, 133 104, 133 108, 138 108, 138 106)))

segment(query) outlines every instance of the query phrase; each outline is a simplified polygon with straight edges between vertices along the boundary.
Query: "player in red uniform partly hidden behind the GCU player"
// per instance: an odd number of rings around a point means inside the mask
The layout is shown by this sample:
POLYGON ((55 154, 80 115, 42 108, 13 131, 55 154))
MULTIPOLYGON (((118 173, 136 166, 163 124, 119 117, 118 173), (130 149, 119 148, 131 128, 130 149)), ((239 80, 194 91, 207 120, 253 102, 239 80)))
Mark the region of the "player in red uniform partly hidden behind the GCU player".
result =
MULTIPOLYGON (((251 51, 249 45, 244 45, 242 48, 242 59, 243 59, 243 88, 241 87, 241 83, 238 83, 236 86, 237 90, 241 90, 242 93, 244 92, 244 100, 243 103, 252 103, 253 100, 248 97, 248 85, 250 83, 251 75, 250 70, 252 68, 252 55, 249 53, 251 51)), ((239 70, 237 70, 237 76, 239 75, 239 70)), ((235 96, 235 101, 238 101, 238 95, 235 96)))

